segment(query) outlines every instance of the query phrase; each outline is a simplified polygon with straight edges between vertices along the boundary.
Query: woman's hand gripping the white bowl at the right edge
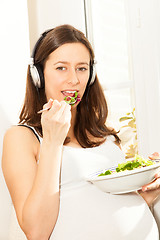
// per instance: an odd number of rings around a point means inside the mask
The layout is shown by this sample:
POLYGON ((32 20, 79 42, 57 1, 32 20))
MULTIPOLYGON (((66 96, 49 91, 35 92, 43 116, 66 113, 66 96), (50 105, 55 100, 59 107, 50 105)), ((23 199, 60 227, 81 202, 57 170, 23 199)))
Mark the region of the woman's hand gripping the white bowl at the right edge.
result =
MULTIPOLYGON (((153 153, 149 156, 150 159, 160 159, 160 153, 153 153)), ((149 206, 160 195, 160 171, 155 174, 155 180, 149 184, 142 186, 142 189, 138 191, 149 206)))

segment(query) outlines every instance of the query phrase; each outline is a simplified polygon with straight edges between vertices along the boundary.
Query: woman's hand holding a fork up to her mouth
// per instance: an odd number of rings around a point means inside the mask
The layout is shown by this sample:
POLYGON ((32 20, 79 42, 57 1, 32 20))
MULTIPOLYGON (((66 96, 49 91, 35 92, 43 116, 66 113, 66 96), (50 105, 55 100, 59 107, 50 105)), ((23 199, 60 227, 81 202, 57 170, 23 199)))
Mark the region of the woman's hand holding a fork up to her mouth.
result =
POLYGON ((71 106, 65 101, 50 99, 43 106, 45 108, 49 110, 44 111, 41 116, 43 140, 63 145, 70 128, 71 106))

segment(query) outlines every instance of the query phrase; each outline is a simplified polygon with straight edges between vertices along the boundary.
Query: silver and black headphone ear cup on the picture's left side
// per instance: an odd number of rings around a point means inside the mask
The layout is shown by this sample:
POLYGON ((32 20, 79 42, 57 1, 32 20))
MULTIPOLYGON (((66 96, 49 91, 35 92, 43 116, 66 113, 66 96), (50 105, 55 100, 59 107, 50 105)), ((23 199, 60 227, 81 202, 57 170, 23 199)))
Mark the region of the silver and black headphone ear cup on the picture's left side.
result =
POLYGON ((30 65, 30 74, 31 74, 34 85, 38 88, 43 88, 44 87, 44 75, 43 75, 41 67, 38 64, 36 64, 36 65, 31 64, 30 65))

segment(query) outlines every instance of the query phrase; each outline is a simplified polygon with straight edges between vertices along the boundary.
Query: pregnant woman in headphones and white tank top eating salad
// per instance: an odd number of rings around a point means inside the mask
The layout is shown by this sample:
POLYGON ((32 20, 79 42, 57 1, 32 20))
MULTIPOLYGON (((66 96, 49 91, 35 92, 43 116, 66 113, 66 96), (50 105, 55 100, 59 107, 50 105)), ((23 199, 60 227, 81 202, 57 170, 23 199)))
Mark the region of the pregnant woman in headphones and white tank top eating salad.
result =
POLYGON ((42 34, 28 68, 20 125, 6 132, 2 160, 27 239, 158 239, 140 195, 107 194, 85 181, 124 161, 107 114, 84 34, 69 25, 42 34))

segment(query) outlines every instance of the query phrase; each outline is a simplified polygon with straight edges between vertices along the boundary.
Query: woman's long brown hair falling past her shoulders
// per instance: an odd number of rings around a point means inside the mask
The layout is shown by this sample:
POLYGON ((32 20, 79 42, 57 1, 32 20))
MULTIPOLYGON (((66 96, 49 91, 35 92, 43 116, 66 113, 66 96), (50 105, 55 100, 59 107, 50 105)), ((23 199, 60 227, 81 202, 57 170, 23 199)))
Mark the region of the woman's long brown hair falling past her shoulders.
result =
MULTIPOLYGON (((39 43, 34 57, 34 63, 44 69, 48 56, 65 43, 82 43, 90 53, 90 67, 94 63, 94 52, 85 35, 70 25, 61 25, 50 30, 39 43)), ((19 123, 26 123, 35 128, 43 137, 41 116, 37 112, 47 102, 45 87, 37 88, 33 84, 28 66, 25 100, 20 113, 19 123)), ((87 84, 81 102, 77 106, 77 115, 74 126, 74 134, 83 148, 95 147, 102 144, 108 135, 115 136, 120 142, 117 132, 106 126, 108 107, 102 87, 97 75, 92 85, 87 84), (94 141, 93 139, 99 139, 94 141)))

